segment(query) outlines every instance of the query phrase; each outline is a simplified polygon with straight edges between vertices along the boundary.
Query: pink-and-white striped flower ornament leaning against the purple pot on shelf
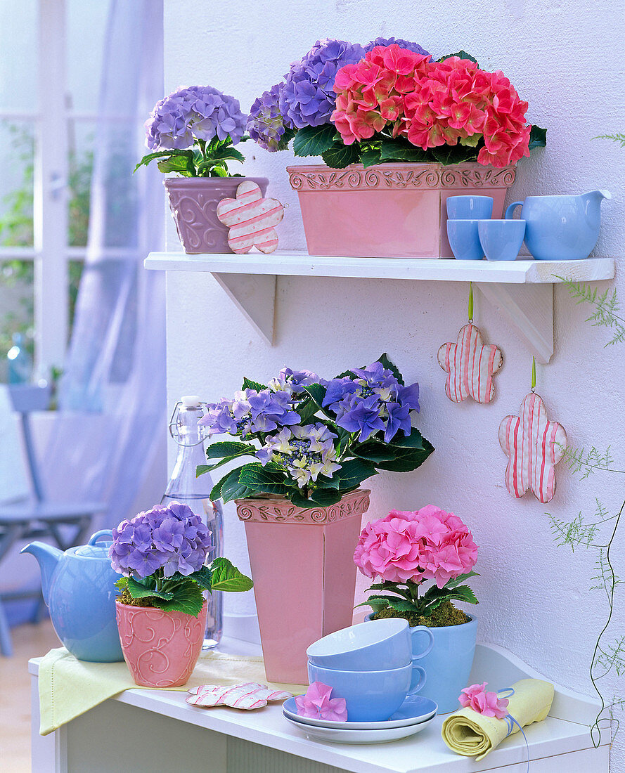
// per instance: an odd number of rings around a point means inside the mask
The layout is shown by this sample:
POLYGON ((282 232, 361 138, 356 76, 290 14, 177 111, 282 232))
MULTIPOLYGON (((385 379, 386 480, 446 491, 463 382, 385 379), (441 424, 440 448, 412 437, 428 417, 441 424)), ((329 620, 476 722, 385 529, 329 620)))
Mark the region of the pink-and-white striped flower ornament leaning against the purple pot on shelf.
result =
POLYGON ((237 255, 252 247, 270 253, 278 247, 275 226, 284 216, 284 207, 278 199, 263 199, 261 189, 252 180, 245 180, 237 188, 235 199, 221 199, 217 217, 228 226, 228 246, 237 255))

